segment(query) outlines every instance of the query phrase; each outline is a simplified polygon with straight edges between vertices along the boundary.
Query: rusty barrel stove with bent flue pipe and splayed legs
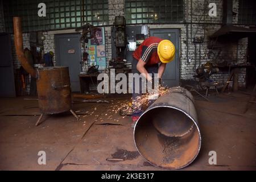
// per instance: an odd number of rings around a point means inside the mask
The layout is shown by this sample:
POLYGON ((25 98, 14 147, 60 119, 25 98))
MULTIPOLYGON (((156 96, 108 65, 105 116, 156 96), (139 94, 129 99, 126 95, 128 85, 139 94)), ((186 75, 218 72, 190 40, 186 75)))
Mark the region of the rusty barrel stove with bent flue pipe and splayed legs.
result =
MULTIPOLYGON (((14 23, 14 43, 16 55, 23 68, 36 78, 38 90, 39 109, 43 114, 57 114, 71 111, 71 84, 68 67, 44 67, 34 69, 27 61, 23 52, 22 23, 20 17, 13 18, 14 23)), ((39 124, 42 115, 36 122, 39 124)))

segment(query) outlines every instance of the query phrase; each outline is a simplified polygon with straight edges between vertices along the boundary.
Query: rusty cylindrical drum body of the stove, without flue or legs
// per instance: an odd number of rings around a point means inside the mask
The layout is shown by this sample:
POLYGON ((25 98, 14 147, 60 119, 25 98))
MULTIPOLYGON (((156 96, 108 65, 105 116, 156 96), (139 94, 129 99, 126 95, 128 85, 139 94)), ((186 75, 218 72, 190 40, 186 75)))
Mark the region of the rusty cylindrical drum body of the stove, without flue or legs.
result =
POLYGON ((68 67, 37 69, 39 109, 42 113, 56 114, 71 109, 71 89, 68 67))

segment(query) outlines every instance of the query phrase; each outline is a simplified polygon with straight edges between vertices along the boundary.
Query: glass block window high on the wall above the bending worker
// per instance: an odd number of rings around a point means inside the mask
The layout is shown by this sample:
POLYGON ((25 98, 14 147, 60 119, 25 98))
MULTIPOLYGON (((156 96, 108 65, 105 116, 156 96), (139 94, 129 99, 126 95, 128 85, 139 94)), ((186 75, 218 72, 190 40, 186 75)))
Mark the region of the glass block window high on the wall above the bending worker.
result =
POLYGON ((183 0, 125 0, 127 24, 184 21, 183 0))

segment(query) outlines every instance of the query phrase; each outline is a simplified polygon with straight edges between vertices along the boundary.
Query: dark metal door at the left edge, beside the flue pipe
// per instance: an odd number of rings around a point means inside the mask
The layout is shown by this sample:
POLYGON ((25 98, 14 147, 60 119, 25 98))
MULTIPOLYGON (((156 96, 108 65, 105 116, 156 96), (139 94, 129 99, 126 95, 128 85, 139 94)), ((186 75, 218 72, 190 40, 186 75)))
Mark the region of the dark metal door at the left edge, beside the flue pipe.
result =
POLYGON ((11 39, 6 33, 0 34, 0 97, 15 97, 11 39))

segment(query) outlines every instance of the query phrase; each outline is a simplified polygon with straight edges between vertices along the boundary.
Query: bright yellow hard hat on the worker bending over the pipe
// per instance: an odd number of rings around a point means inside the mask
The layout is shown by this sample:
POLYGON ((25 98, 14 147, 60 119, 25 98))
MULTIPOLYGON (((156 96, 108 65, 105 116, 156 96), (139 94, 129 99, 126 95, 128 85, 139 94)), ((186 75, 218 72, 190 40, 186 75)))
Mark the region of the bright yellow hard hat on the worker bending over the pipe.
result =
POLYGON ((175 46, 170 40, 162 40, 158 44, 158 56, 162 63, 169 63, 174 60, 175 46))

